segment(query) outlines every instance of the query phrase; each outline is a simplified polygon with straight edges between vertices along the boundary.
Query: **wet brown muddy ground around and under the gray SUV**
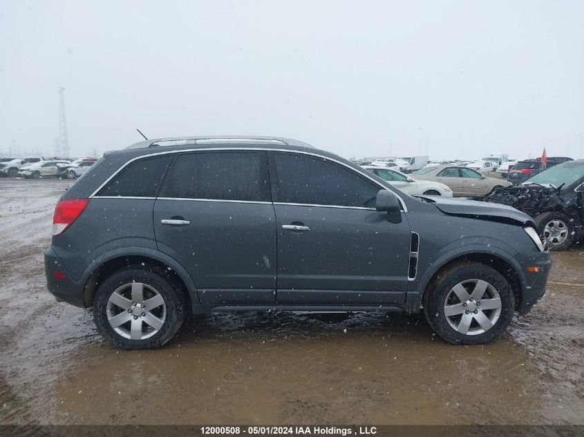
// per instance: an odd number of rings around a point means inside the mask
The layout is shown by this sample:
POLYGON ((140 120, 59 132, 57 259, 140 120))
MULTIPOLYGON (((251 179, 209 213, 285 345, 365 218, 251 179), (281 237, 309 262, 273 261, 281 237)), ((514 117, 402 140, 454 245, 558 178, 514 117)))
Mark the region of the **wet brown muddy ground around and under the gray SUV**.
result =
POLYGON ((46 291, 70 182, 0 179, 0 424, 584 424, 584 251, 543 300, 460 347, 420 316, 214 314, 157 351, 111 349, 46 291))

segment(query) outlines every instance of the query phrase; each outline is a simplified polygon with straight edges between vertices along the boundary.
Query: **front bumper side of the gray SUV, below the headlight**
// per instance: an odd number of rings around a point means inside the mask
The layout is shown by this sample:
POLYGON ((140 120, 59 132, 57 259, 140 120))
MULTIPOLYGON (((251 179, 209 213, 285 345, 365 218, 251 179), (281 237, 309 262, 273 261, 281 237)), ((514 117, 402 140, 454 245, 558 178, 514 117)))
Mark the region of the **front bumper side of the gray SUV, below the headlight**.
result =
POLYGON ((540 300, 545 293, 549 271, 552 269, 552 260, 549 252, 520 253, 514 257, 520 266, 521 299, 518 302, 520 315, 527 314, 531 307, 540 300), (539 271, 527 271, 529 266, 539 266, 539 271))

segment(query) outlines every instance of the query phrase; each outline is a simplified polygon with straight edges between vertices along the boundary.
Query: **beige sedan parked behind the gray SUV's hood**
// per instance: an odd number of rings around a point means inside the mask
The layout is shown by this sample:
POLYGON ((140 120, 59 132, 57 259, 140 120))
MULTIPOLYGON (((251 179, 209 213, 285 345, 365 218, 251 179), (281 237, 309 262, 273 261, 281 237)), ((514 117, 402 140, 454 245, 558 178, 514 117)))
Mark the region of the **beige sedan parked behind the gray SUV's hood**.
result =
POLYGON ((454 197, 473 197, 489 193, 496 186, 509 186, 509 182, 486 177, 469 167, 438 166, 422 168, 412 173, 415 179, 435 181, 451 188, 454 197))

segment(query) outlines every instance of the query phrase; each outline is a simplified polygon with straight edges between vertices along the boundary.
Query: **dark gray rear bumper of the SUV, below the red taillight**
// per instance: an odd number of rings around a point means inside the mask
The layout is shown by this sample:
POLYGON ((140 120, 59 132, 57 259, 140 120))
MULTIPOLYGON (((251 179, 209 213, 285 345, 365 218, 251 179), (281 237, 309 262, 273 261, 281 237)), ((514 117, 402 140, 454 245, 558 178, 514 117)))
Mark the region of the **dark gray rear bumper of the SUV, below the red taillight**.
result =
POLYGON ((85 287, 70 279, 67 269, 51 248, 45 251, 45 275, 46 287, 57 300, 75 305, 75 307, 87 307, 84 302, 85 287))

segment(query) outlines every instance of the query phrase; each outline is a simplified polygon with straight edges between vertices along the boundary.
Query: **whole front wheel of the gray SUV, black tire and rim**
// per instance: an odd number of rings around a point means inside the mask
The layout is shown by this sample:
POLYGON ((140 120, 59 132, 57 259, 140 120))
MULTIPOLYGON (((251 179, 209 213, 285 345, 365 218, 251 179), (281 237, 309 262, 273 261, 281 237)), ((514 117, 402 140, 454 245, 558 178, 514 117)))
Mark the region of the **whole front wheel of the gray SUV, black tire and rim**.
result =
POLYGON ((423 303, 428 323, 451 344, 496 340, 509 326, 515 309, 509 282, 479 262, 455 264, 437 273, 426 288, 423 303))

